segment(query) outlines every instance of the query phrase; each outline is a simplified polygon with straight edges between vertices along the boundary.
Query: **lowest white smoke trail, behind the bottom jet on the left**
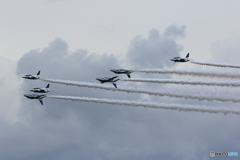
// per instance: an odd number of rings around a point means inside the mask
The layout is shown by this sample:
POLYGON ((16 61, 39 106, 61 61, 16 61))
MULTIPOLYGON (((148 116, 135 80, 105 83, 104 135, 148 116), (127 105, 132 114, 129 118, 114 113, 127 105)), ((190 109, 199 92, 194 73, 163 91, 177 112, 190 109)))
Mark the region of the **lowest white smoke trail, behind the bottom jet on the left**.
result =
POLYGON ((240 114, 239 109, 235 108, 222 108, 222 107, 207 107, 199 105, 180 105, 180 104, 166 104, 166 103, 152 103, 152 102, 137 102, 137 101, 126 101, 126 100, 114 100, 114 99, 102 99, 102 98, 88 98, 88 97, 71 97, 71 96, 58 96, 51 95, 47 96, 54 99, 72 100, 72 101, 84 101, 94 103, 106 103, 112 105, 125 105, 134 107, 147 107, 156 109, 170 109, 178 111, 195 111, 195 112, 208 112, 208 113, 223 113, 223 114, 240 114))

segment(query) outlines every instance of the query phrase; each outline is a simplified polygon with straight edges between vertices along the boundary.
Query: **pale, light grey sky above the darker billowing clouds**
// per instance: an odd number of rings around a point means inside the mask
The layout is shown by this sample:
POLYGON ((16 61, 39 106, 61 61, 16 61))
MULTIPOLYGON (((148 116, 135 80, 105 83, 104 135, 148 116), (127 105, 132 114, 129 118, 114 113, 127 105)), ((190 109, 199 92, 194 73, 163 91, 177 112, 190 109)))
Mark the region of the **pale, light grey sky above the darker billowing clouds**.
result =
POLYGON ((56 37, 70 50, 123 54, 136 35, 186 25, 181 55, 208 60, 211 44, 240 35, 235 0, 22 0, 0 1, 0 56, 17 61, 31 49, 43 48, 56 37))

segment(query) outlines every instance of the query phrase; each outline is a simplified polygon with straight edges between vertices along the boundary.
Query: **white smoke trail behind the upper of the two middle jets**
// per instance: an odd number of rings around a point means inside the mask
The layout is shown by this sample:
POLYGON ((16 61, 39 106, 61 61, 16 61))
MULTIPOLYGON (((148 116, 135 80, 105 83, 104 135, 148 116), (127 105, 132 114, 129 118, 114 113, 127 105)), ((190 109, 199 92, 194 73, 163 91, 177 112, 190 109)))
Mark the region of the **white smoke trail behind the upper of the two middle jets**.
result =
POLYGON ((221 78, 240 78, 240 72, 220 72, 220 71, 199 71, 199 70, 172 70, 172 69, 143 69, 135 72, 157 73, 157 74, 176 74, 186 76, 206 76, 221 78))

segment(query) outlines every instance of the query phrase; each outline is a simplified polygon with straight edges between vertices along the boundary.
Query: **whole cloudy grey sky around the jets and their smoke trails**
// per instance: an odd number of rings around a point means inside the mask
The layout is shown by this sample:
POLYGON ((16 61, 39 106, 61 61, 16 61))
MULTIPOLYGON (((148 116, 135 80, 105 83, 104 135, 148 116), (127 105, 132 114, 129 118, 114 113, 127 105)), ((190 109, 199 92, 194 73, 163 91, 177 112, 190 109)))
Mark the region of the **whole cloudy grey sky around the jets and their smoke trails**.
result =
MULTIPOLYGON (((190 58, 201 62, 239 64, 240 2, 0 0, 0 4, 0 66, 3 68, 0 71, 0 159, 211 160, 210 151, 240 153, 239 115, 51 98, 43 99, 44 105, 41 105, 23 95, 47 83, 21 78, 39 70, 46 78, 86 82, 96 82, 96 77, 115 76, 109 71, 113 68, 239 72, 173 63, 169 59, 190 53, 190 58)), ((184 78, 143 73, 131 76, 184 78)), ((119 77, 127 78, 126 75, 119 77)), ((239 88, 231 87, 123 81, 117 85, 223 97, 236 97, 240 92, 239 88)), ((50 89, 54 91, 48 95, 239 107, 232 102, 157 97, 60 84, 50 84, 50 89)))

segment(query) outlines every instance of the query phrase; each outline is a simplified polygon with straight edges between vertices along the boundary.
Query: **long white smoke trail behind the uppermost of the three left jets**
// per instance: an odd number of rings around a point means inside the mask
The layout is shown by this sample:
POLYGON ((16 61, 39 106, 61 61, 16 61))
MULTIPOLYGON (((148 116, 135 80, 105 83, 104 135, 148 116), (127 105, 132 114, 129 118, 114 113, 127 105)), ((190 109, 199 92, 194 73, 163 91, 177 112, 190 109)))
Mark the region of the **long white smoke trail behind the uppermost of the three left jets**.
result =
POLYGON ((199 101, 215 100, 215 101, 221 101, 221 102, 234 102, 234 103, 240 102, 240 99, 238 98, 238 96, 235 96, 234 98, 228 98, 227 96, 219 97, 211 93, 199 93, 196 95, 194 93, 189 93, 189 92, 188 93, 176 92, 175 90, 172 90, 173 92, 166 92, 166 91, 153 91, 153 90, 146 90, 146 89, 123 88, 123 87, 113 88, 112 86, 106 86, 106 85, 89 83, 89 82, 74 82, 74 81, 54 80, 54 79, 45 79, 45 78, 41 78, 41 80, 50 82, 50 83, 58 83, 58 84, 72 85, 72 86, 78 86, 78 87, 98 88, 98 89, 121 91, 121 92, 127 92, 127 93, 142 93, 142 94, 148 94, 148 95, 168 96, 168 97, 174 97, 174 98, 197 99, 199 101))

